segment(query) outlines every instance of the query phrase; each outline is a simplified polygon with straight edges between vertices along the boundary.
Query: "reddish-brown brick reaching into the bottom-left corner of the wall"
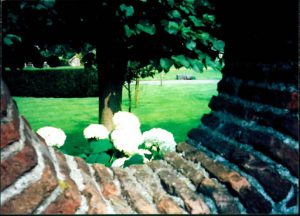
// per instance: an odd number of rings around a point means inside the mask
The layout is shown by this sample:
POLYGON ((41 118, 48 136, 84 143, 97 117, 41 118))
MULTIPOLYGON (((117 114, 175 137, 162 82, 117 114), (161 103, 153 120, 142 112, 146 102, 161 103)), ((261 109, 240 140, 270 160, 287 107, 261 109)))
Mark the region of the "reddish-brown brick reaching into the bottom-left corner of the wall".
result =
POLYGON ((1 206, 2 214, 31 214, 38 205, 57 187, 54 168, 46 160, 40 180, 32 183, 21 194, 13 196, 1 206))

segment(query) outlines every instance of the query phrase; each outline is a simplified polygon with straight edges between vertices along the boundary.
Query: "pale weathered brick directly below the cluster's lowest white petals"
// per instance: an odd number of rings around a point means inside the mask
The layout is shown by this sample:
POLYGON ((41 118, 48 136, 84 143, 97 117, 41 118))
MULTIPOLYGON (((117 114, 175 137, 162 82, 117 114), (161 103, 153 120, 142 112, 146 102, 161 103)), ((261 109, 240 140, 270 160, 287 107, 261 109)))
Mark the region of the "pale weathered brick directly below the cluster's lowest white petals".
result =
POLYGON ((146 198, 136 190, 134 181, 129 177, 128 173, 122 168, 113 168, 115 175, 121 182, 124 196, 127 197, 128 202, 131 204, 134 210, 140 214, 156 214, 154 209, 146 198))

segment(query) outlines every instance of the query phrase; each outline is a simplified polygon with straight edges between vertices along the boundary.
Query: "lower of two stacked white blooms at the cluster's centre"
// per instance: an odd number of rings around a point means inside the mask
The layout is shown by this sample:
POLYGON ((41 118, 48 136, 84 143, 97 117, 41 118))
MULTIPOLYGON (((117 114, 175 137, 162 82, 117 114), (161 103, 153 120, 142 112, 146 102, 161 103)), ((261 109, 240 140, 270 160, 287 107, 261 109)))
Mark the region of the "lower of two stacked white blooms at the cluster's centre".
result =
POLYGON ((141 131, 138 130, 114 130, 111 139, 116 149, 130 156, 138 151, 140 144, 144 142, 141 131))

